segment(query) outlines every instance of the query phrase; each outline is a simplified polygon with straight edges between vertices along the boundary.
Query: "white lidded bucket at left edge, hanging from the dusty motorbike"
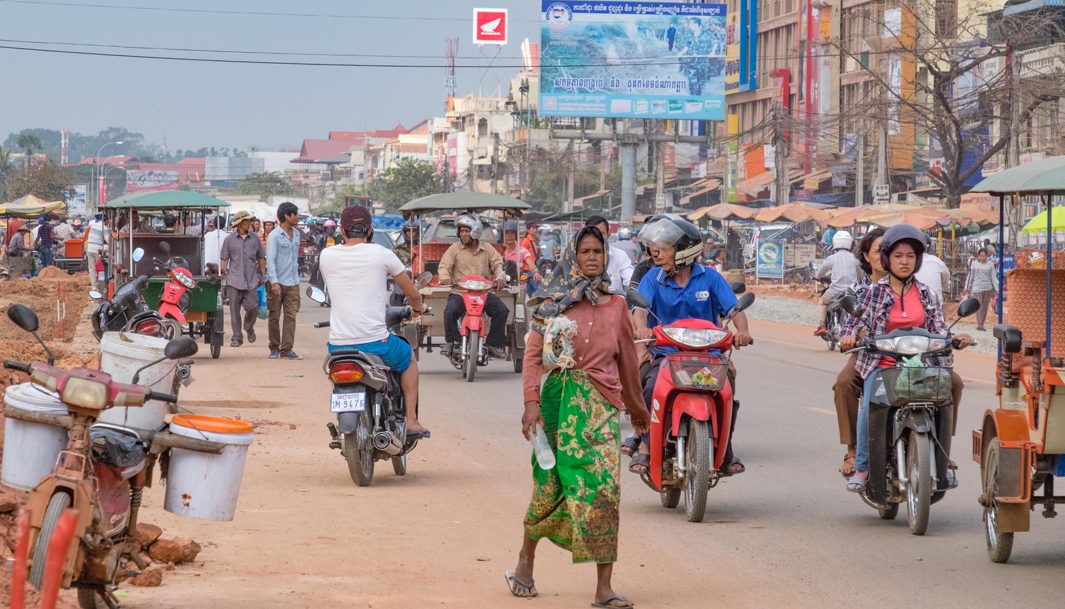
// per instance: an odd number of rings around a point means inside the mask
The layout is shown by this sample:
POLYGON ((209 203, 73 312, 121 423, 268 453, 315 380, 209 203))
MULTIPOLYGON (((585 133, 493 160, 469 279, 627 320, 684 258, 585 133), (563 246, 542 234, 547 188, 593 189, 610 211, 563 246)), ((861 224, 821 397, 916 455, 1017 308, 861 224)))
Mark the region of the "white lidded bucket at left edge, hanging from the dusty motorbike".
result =
MULTIPOLYGON (((28 382, 9 386, 3 400, 9 412, 67 413, 59 395, 28 382)), ((52 473, 55 459, 66 445, 67 430, 63 427, 5 417, 0 482, 20 491, 33 490, 43 477, 52 473)))

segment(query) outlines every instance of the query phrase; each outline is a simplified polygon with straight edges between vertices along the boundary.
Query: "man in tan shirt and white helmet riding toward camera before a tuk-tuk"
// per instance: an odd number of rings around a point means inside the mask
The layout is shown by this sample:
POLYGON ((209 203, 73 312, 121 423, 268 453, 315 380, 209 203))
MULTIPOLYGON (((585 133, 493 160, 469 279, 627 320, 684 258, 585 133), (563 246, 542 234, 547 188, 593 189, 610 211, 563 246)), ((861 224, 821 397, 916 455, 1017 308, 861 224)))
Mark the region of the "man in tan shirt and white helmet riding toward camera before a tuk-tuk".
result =
MULTIPOLYGON (((459 241, 453 243, 440 259, 437 274, 441 285, 453 285, 447 296, 447 307, 444 308, 444 340, 447 344, 440 352, 450 356, 459 335, 459 320, 465 314, 465 301, 462 300, 458 282, 470 275, 480 275, 494 280, 496 289, 503 290, 507 278, 503 274, 503 257, 488 242, 480 241, 482 226, 480 220, 472 215, 463 214, 455 220, 459 241)), ((488 355, 493 358, 506 357, 504 347, 507 344, 507 317, 510 310, 495 294, 489 294, 485 299, 485 314, 492 320, 485 341, 488 355)))

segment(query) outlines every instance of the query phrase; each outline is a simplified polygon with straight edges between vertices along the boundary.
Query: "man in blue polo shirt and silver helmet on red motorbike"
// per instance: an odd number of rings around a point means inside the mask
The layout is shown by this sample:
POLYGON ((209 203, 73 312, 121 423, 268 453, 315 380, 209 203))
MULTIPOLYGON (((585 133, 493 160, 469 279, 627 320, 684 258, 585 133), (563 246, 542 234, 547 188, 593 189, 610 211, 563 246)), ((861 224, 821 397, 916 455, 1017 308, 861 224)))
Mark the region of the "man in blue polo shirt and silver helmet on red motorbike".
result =
MULTIPOLYGON (((722 317, 732 312, 737 302, 732 286, 716 269, 695 262, 703 251, 703 240, 699 227, 675 214, 666 214, 653 223, 644 225, 643 230, 640 231, 640 241, 651 248, 651 254, 658 265, 657 268, 652 268, 643 276, 638 287, 640 294, 651 302, 651 312, 655 314, 657 319, 649 325, 648 313, 637 309, 634 314, 637 339, 653 338, 651 328, 659 320, 661 324, 668 325, 677 319, 694 318, 720 324, 722 317)), ((751 333, 748 329, 747 315, 741 311, 737 313, 733 322, 736 325, 733 345, 736 348, 750 345, 751 333)), ((654 361, 651 364, 651 375, 643 388, 643 399, 649 411, 652 408, 651 399, 658 378, 658 368, 661 366, 666 353, 670 350, 673 349, 670 347, 655 347, 653 349, 654 361)), ((728 382, 732 384, 733 395, 735 395, 736 375, 731 364, 728 382)), ((733 400, 733 429, 735 429, 738 408, 739 402, 733 400)), ((637 474, 648 473, 651 463, 650 445, 650 434, 644 433, 639 452, 633 456, 633 461, 628 466, 629 471, 637 474)), ((733 454, 732 434, 730 434, 724 462, 724 472, 722 472, 724 476, 741 474, 746 470, 743 463, 733 454)))

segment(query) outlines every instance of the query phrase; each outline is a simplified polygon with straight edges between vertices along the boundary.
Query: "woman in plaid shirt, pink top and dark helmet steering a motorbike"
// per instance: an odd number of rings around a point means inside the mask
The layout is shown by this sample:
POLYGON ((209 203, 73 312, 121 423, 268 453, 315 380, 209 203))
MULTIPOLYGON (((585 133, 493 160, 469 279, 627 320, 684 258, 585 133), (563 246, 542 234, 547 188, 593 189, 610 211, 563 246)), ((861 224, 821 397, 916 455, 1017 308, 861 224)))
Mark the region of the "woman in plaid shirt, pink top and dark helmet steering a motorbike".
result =
MULTIPOLYGON (((868 326, 869 335, 881 335, 900 328, 924 328, 934 334, 948 332, 947 322, 943 313, 943 303, 928 285, 915 279, 920 270, 921 258, 924 253, 924 238, 916 227, 896 225, 884 232, 880 244, 880 263, 887 271, 859 300, 865 313, 861 318, 851 317, 843 328, 839 345, 843 350, 854 348, 857 334, 863 329, 863 322, 868 326)), ((957 348, 964 349, 972 344, 968 334, 954 334, 957 348)), ((945 358, 931 356, 924 359, 928 366, 949 365, 945 358)), ((847 483, 847 490, 861 493, 869 479, 869 395, 872 383, 879 376, 879 369, 895 364, 892 358, 858 352, 857 374, 865 379, 862 402, 858 408, 857 446, 854 457, 854 475, 847 483)), ((957 401, 961 397, 961 379, 954 374, 954 385, 957 388, 953 400, 954 421, 957 421, 957 401)), ((956 425, 956 423, 955 423, 956 425)), ((956 470, 953 462, 951 470, 956 470)))

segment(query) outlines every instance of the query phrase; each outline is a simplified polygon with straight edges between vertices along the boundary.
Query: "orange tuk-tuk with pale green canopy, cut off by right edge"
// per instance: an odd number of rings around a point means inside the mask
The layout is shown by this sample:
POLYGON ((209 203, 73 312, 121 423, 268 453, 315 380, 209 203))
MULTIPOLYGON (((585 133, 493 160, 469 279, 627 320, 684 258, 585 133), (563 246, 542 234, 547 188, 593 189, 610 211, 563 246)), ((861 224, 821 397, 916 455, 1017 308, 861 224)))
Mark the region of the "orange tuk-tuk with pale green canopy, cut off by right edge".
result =
POLYGON ((1053 197, 1065 195, 1065 157, 999 171, 972 191, 998 195, 999 251, 1005 208, 1018 204, 1017 196, 1038 196, 1047 210, 1042 264, 1009 273, 999 266, 999 302, 1007 284, 1010 294, 994 328, 999 406, 972 431, 987 554, 993 562, 1005 562, 1013 534, 1029 530, 1032 512, 1042 508, 1051 519, 1055 505, 1065 503, 1065 494, 1054 492, 1054 479, 1065 476, 1065 264, 1054 236, 1065 226, 1055 226, 1051 213, 1053 197))

